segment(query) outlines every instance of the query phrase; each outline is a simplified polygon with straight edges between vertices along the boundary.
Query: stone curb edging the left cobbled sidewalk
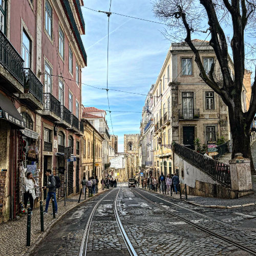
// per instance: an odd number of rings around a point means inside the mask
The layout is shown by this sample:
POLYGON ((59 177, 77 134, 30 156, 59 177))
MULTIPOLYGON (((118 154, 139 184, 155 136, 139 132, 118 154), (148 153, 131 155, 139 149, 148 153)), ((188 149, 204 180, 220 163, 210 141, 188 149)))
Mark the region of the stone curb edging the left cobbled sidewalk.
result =
MULTIPOLYGON (((106 190, 105 190, 106 191, 106 190)), ((103 194, 104 193, 104 190, 99 192, 97 195, 95 196, 99 196, 100 194, 103 194)), ((95 197, 94 196, 94 197, 95 197)), ((58 223, 66 214, 68 214, 68 212, 70 212, 71 210, 73 210, 74 208, 76 208, 77 206, 79 206, 80 204, 84 203, 84 202, 87 202, 87 201, 90 201, 92 198, 94 197, 90 197, 90 198, 87 198, 86 200, 78 203, 77 205, 74 205, 72 206, 71 208, 69 208, 68 210, 66 210, 65 212, 63 212, 62 215, 60 215, 58 217, 58 219, 55 219, 55 221, 53 221, 51 223, 51 225, 49 227, 47 227, 46 231, 42 232, 41 233, 41 236, 34 242, 34 244, 32 244, 28 250, 23 254, 23 256, 30 256, 31 253, 35 250, 35 248, 41 243, 42 240, 44 240, 47 236, 47 234, 50 232, 50 230, 55 226, 56 223, 58 223)))

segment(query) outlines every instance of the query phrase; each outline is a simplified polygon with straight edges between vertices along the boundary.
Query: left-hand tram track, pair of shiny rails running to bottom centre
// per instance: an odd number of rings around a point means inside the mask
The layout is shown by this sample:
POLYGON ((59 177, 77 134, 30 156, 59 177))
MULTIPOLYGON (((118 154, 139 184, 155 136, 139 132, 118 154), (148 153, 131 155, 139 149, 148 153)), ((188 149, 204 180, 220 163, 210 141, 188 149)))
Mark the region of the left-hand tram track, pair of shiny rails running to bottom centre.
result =
MULTIPOLYGON (((83 232, 83 237, 82 237, 82 241, 81 241, 81 246, 80 246, 80 250, 79 250, 79 256, 86 256, 87 255, 87 247, 88 247, 88 238, 89 238, 89 233, 90 233, 90 227, 92 224, 92 220, 95 214, 95 211, 97 209, 97 207, 99 206, 99 204, 103 201, 104 198, 108 197, 112 191, 116 191, 117 189, 112 189, 108 194, 106 194, 104 197, 102 197, 93 207, 91 214, 88 218, 87 224, 86 224, 86 228, 84 228, 84 232, 83 232)), ((127 234, 122 226, 122 223, 120 221, 119 215, 118 215, 118 210, 117 210, 117 199, 118 199, 118 195, 120 192, 120 188, 118 189, 118 192, 116 194, 114 203, 113 203, 113 209, 114 209, 114 215, 116 218, 116 222, 118 225, 118 228, 120 230, 122 239, 127 247, 127 250, 129 251, 130 255, 132 256, 137 256, 137 253, 133 247, 133 245, 131 244, 129 238, 127 237, 127 234)))

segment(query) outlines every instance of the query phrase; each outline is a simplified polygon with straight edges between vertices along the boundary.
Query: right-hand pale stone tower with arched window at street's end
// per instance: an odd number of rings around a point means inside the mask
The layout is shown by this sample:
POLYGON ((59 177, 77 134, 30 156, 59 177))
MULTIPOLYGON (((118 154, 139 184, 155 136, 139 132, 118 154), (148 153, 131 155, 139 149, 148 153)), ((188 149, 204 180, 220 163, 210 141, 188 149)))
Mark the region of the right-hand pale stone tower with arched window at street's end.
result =
POLYGON ((128 178, 134 177, 138 172, 139 134, 123 135, 123 151, 126 155, 126 172, 128 178))

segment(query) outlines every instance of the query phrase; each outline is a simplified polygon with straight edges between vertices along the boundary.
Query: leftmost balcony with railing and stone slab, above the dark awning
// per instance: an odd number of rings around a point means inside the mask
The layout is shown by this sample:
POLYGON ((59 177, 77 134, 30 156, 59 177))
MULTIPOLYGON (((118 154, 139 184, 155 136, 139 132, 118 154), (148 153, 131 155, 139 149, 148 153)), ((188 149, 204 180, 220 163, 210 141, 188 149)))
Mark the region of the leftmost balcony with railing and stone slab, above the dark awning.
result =
POLYGON ((24 60, 0 30, 0 84, 11 93, 24 93, 24 60))

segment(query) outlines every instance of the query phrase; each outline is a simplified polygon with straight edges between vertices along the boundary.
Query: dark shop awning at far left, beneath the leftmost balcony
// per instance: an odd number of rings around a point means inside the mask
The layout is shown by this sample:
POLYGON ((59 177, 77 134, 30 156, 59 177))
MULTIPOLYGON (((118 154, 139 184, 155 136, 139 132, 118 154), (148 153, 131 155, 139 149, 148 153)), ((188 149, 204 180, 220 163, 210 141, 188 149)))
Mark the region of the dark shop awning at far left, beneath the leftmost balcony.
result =
POLYGON ((15 129, 24 129, 25 122, 18 113, 12 101, 0 93, 0 119, 5 119, 15 126, 15 129))

